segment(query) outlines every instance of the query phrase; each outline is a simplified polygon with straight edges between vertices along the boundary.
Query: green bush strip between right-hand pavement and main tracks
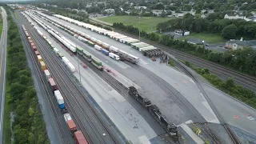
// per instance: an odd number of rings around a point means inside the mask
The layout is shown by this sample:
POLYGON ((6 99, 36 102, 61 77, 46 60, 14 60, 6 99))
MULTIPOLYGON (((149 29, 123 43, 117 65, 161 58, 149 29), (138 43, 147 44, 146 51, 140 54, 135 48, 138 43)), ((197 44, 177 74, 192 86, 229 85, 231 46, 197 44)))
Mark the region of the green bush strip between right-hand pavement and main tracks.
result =
POLYGON ((247 105, 256 109, 256 95, 253 91, 243 88, 242 86, 235 85, 232 78, 228 78, 226 81, 222 81, 216 75, 210 74, 208 69, 198 68, 193 66, 190 62, 181 62, 195 70, 198 74, 202 75, 202 77, 206 78, 219 90, 222 90, 224 93, 229 94, 233 98, 245 102, 247 105))

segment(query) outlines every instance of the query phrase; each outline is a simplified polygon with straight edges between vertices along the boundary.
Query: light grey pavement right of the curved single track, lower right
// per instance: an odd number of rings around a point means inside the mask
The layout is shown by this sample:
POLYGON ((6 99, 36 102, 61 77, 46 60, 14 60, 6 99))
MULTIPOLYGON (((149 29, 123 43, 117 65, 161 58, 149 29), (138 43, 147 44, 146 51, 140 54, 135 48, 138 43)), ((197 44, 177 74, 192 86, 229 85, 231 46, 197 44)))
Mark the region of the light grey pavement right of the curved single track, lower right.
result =
POLYGON ((256 110, 238 102, 212 86, 203 85, 227 123, 256 136, 256 110))

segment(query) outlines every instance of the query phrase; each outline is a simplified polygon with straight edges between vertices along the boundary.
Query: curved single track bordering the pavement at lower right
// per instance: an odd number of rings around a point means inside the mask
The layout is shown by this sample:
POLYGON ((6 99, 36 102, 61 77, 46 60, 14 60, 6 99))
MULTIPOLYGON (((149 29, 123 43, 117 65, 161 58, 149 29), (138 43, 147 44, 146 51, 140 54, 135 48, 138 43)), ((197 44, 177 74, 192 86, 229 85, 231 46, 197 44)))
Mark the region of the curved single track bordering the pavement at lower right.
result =
POLYGON ((190 73, 190 70, 186 69, 186 66, 183 66, 181 62, 178 62, 178 64, 180 66, 182 66, 183 70, 185 70, 186 73, 189 74, 190 77, 194 80, 194 82, 196 82, 196 84, 198 85, 199 90, 201 90, 202 94, 205 96, 206 101, 209 103, 210 107, 214 111, 214 114, 218 118, 218 120, 221 123, 221 125, 224 126, 224 128, 225 128, 227 134, 230 136, 232 142, 234 142, 234 144, 240 144, 241 142, 239 141, 239 139, 236 136, 236 134, 234 134, 234 131, 230 129, 230 126, 225 122, 225 120, 222 117, 222 115, 218 112, 217 108, 214 106, 214 102, 211 101, 211 99, 209 98, 208 94, 203 89, 202 83, 199 82, 198 78, 195 78, 194 75, 190 73))

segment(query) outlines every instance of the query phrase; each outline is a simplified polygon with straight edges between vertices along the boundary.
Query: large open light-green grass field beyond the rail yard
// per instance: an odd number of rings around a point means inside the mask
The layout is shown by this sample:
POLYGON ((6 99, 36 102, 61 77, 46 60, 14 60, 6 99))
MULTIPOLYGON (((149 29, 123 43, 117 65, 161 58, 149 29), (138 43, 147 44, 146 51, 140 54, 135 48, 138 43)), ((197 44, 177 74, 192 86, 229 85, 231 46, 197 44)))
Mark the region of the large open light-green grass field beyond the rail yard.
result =
MULTIPOLYGON (((101 21, 114 23, 122 22, 125 25, 133 25, 139 27, 138 16, 111 16, 107 18, 98 18, 101 21)), ((171 18, 160 18, 160 17, 142 17, 141 18, 141 30, 151 32, 156 30, 156 26, 160 22, 166 22, 171 18)))

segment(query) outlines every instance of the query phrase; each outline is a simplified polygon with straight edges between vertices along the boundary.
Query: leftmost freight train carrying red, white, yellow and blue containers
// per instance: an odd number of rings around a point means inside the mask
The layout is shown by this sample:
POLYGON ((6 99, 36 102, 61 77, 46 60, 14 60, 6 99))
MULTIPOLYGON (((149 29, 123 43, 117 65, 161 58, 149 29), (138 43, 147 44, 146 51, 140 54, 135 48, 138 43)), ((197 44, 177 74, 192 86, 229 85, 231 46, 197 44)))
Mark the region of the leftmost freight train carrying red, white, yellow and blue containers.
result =
MULTIPOLYGON (((70 134, 74 138, 75 144, 88 144, 88 142, 86 141, 86 138, 82 134, 82 131, 77 130, 77 126, 75 125, 70 114, 68 113, 68 111, 66 109, 65 102, 64 102, 64 98, 62 97, 62 93, 60 90, 58 90, 58 86, 54 82, 54 78, 51 77, 49 70, 47 70, 46 64, 45 64, 45 62, 43 62, 43 59, 42 59, 41 55, 39 54, 37 47, 34 45, 33 39, 30 38, 29 32, 26 30, 25 26, 23 26, 23 25, 22 25, 22 29, 24 30, 24 32, 26 34, 27 41, 30 42, 30 49, 34 52, 35 57, 38 58, 38 62, 41 67, 41 70, 42 70, 43 74, 46 76, 46 80, 49 83, 51 90, 53 91, 54 98, 56 99, 56 101, 58 103, 58 107, 59 107, 60 111, 62 112, 62 115, 66 121, 66 125, 68 126, 68 128, 70 130, 70 134)), ((39 34, 39 32, 38 32, 38 34, 39 34)))

